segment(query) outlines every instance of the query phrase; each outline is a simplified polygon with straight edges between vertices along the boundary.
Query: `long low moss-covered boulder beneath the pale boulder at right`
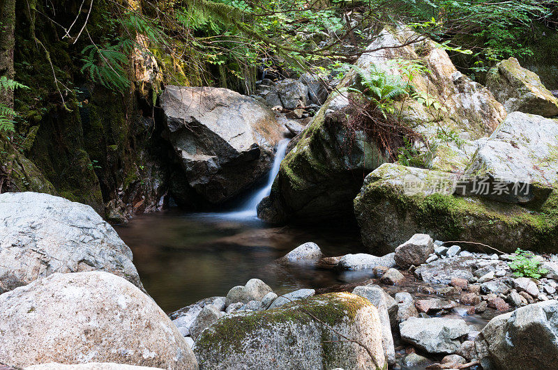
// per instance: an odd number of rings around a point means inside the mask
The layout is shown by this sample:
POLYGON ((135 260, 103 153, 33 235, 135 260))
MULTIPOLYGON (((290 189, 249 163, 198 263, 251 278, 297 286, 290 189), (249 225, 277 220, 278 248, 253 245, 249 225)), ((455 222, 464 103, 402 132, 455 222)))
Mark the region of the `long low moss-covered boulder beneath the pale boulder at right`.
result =
POLYGON ((354 199, 364 245, 392 252, 415 233, 438 240, 481 242, 503 252, 518 247, 555 252, 558 194, 537 208, 481 196, 459 196, 458 177, 442 171, 383 164, 354 199))

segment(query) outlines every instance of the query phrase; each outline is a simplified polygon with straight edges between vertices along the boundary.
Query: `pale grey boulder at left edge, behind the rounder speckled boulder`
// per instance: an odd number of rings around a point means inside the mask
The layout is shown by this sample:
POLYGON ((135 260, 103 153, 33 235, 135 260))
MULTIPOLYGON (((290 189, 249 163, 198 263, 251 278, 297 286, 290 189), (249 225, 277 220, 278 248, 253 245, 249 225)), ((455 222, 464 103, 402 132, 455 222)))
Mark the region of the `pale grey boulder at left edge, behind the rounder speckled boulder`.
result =
POLYGON ((55 272, 103 270, 143 290, 132 251, 91 208, 33 192, 0 194, 0 294, 55 272))

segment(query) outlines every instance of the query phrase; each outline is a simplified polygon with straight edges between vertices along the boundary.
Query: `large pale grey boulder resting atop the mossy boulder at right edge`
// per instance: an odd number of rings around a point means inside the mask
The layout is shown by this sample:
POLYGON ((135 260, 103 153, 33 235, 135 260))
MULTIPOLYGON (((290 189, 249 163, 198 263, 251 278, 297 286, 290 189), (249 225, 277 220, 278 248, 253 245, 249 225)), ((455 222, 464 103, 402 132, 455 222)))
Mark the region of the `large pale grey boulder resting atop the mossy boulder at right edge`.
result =
POLYGON ((516 111, 479 142, 466 176, 490 179, 487 191, 479 185, 478 196, 506 203, 541 203, 558 181, 557 148, 557 120, 516 111), (505 192, 496 191, 502 186, 505 192))

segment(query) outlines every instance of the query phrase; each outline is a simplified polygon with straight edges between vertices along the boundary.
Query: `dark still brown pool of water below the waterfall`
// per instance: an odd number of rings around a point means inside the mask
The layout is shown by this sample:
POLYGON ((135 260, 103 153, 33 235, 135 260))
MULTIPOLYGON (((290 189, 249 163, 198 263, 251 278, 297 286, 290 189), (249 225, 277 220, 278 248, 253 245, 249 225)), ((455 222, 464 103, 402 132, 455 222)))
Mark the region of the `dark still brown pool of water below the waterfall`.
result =
POLYGON ((340 273, 274 263, 308 241, 316 242, 326 256, 365 252, 352 222, 273 227, 255 217, 171 210, 137 215, 115 229, 132 249, 146 291, 166 312, 226 295, 233 286, 252 278, 286 293, 370 277, 370 272, 340 273))

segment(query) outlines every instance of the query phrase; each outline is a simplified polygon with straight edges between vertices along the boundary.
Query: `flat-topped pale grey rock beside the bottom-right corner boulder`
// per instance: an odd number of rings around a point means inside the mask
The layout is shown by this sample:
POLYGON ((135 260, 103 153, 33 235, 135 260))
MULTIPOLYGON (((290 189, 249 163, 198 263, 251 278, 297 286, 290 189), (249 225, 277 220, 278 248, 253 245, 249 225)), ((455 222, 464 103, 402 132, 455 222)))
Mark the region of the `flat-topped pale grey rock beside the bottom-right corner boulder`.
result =
POLYGON ((455 353, 469 327, 460 318, 409 318, 399 324, 401 339, 428 353, 455 353))

